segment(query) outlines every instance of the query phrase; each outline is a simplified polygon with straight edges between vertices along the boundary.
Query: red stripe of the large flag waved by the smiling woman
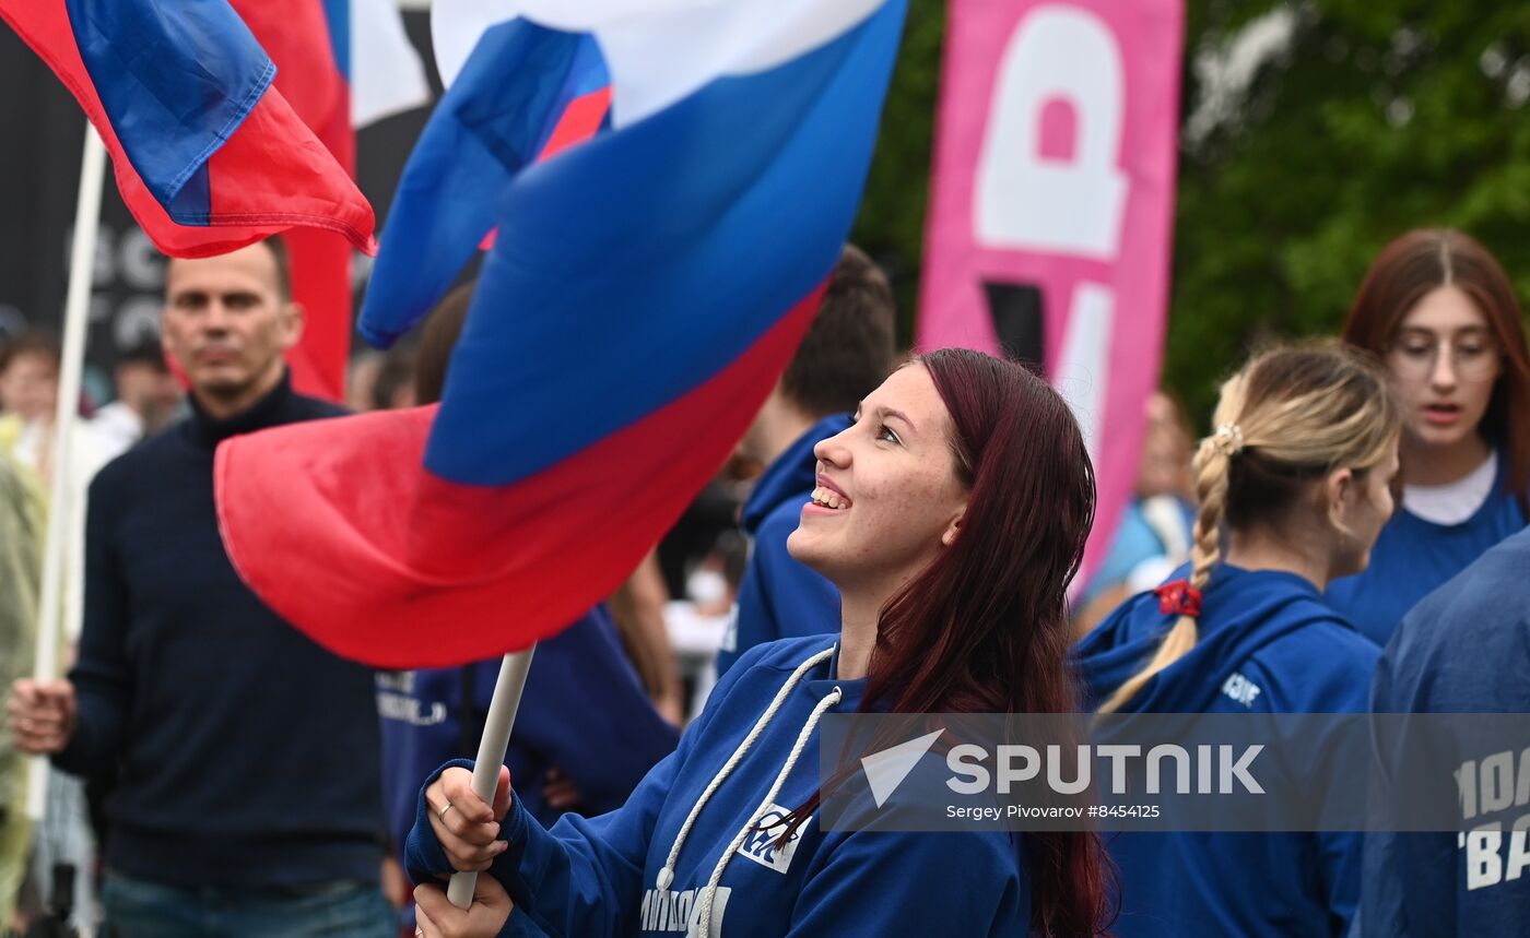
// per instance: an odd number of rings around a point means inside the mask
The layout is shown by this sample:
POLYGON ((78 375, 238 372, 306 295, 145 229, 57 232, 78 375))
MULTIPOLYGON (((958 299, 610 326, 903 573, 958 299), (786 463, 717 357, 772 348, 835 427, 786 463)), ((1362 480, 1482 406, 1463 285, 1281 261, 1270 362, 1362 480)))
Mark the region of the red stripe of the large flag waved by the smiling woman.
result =
POLYGON ((422 469, 436 405, 228 440, 214 471, 228 556, 283 619, 347 658, 428 668, 525 648, 615 590, 679 518, 822 296, 684 397, 509 487, 422 469))

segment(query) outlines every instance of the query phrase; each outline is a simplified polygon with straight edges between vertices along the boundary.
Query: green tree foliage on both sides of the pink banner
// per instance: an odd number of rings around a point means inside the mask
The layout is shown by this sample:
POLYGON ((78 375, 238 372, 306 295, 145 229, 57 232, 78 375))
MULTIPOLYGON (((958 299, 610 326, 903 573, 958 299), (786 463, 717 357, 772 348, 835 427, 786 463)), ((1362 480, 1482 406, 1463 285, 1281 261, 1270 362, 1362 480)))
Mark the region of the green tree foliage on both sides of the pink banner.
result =
MULTIPOLYGON (((944 5, 915 0, 855 231, 895 277, 904 338, 942 32, 944 5)), ((1189 0, 1186 32, 1184 121, 1227 96, 1180 153, 1164 380, 1198 423, 1252 345, 1336 333, 1371 257, 1409 228, 1470 232, 1530 296, 1530 6, 1189 0), (1288 38, 1245 87, 1196 67, 1273 11, 1288 38)))

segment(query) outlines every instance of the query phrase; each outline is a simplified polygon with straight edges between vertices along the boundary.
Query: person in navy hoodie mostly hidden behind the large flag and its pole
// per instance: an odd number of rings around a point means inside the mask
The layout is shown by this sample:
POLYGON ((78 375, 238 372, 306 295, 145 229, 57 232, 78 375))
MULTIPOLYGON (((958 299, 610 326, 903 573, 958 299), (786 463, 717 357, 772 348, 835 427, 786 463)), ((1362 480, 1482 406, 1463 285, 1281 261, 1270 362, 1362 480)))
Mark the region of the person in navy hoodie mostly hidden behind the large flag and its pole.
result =
MULTIPOLYGON (((457 287, 425 321, 415 362, 419 403, 441 400, 471 295, 473 284, 457 287)), ((493 658, 376 675, 382 804, 401 862, 421 776, 477 752, 499 668, 493 658)), ((621 807, 678 742, 679 730, 653 707, 601 603, 537 645, 505 765, 520 779, 516 794, 526 811, 551 825, 565 811, 621 807)), ((412 904, 401 923, 415 927, 412 904)))

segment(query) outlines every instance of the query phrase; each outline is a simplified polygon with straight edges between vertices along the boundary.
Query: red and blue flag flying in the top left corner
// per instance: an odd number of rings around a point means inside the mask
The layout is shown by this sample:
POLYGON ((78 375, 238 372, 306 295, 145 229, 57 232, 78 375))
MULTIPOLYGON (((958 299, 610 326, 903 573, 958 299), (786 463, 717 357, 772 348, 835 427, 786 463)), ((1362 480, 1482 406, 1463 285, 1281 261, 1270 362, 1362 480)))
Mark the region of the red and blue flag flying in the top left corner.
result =
POLYGON ((0 17, 80 101, 165 254, 294 226, 375 249, 372 206, 271 87, 271 58, 225 0, 0 0, 0 17))

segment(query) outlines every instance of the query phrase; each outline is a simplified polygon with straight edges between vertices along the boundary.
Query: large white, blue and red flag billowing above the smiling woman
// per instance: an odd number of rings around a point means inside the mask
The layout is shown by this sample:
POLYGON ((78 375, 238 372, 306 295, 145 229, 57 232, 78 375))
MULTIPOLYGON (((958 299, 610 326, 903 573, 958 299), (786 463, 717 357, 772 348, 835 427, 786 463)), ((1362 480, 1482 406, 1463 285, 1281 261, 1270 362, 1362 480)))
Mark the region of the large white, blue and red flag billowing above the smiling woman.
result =
POLYGON ((390 215, 418 212, 451 249, 415 254, 390 225, 378 277, 401 289, 367 295, 364 325, 398 335, 497 225, 439 408, 217 454, 245 581, 381 666, 557 631, 716 472, 849 232, 903 21, 903 0, 525 6, 476 44, 390 215), (601 72, 604 130, 528 165, 601 72), (503 185, 467 203, 457 174, 490 171, 503 185))

